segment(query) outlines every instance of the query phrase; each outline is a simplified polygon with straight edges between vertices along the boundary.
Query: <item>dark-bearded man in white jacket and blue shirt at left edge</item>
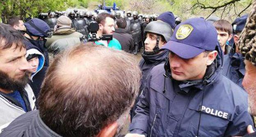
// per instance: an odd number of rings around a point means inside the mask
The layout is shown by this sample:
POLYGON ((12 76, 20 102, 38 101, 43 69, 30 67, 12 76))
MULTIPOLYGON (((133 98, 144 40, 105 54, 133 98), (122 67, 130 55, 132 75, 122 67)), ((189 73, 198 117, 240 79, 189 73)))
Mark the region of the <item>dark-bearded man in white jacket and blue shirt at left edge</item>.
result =
POLYGON ((27 84, 25 38, 9 25, 0 24, 0 131, 18 116, 35 110, 35 97, 27 84))

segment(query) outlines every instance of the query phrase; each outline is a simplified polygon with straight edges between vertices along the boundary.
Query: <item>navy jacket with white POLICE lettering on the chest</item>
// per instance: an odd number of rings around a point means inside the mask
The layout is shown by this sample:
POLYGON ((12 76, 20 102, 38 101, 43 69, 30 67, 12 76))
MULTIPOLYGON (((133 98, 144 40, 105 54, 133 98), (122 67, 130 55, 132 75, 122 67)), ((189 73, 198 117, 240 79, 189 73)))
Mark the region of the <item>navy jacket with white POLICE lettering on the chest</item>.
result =
POLYGON ((247 93, 222 75, 223 53, 219 46, 217 51, 203 80, 172 79, 169 61, 155 66, 136 105, 130 133, 148 137, 245 135, 247 126, 253 124, 247 93))

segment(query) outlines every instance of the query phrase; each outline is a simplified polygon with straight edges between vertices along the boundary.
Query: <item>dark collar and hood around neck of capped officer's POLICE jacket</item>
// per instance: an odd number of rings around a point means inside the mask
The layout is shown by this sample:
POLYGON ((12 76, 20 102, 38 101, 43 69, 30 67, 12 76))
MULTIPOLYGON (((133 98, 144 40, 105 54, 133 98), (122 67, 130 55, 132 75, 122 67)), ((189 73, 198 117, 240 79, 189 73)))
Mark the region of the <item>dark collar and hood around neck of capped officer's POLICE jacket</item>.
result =
MULTIPOLYGON (((216 46, 215 49, 218 52, 218 55, 215 59, 215 61, 207 67, 206 69, 206 74, 203 78, 203 80, 191 80, 191 81, 176 81, 173 79, 174 82, 178 82, 179 88, 185 92, 188 92, 189 89, 191 89, 191 86, 199 89, 203 89, 203 86, 206 85, 211 85, 213 84, 218 76, 221 74, 222 67, 223 67, 223 56, 224 53, 221 50, 219 43, 216 46)), ((165 63, 165 78, 171 77, 171 69, 169 65, 169 60, 165 63)), ((165 91, 165 86, 164 86, 164 91, 165 91)))

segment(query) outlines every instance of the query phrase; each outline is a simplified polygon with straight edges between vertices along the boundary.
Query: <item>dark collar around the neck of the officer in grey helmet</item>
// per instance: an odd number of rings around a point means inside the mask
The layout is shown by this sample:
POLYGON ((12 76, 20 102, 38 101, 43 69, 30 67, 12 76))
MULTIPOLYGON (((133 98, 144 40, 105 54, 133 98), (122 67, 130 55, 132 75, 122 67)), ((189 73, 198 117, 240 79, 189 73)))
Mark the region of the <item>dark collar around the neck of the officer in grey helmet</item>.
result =
POLYGON ((147 55, 145 53, 142 53, 142 57, 145 60, 147 64, 153 64, 155 62, 159 62, 161 60, 165 60, 169 54, 169 51, 164 50, 158 54, 155 55, 147 55))

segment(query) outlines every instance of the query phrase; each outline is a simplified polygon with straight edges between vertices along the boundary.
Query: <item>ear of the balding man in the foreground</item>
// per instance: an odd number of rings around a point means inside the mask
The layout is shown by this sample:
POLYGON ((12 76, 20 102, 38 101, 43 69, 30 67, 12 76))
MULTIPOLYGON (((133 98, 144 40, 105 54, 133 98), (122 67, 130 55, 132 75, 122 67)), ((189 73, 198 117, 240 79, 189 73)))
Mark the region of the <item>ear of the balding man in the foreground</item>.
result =
POLYGON ((116 135, 117 133, 117 127, 117 122, 109 124, 105 128, 103 128, 103 130, 100 131, 97 137, 114 137, 114 135, 116 135))

